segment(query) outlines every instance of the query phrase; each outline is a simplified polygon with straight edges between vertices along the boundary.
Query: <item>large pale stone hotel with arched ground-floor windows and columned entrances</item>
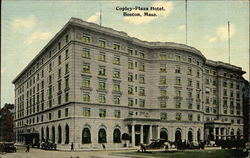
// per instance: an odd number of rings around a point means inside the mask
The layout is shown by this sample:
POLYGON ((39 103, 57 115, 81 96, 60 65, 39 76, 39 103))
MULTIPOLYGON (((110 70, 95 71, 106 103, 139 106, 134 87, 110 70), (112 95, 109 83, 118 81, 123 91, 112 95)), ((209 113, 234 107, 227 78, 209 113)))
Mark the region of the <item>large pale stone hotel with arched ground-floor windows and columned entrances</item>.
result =
POLYGON ((244 73, 188 45, 71 18, 13 80, 16 141, 80 150, 240 139, 244 73))

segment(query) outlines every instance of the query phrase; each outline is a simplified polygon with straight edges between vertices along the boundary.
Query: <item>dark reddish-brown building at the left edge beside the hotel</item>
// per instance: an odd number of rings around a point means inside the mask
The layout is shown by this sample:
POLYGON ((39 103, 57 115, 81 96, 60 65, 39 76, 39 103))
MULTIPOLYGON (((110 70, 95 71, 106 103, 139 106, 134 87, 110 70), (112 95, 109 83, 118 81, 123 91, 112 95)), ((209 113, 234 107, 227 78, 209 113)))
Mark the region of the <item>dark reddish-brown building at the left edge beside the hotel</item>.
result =
POLYGON ((14 140, 14 104, 5 104, 0 109, 0 141, 11 142, 14 140))

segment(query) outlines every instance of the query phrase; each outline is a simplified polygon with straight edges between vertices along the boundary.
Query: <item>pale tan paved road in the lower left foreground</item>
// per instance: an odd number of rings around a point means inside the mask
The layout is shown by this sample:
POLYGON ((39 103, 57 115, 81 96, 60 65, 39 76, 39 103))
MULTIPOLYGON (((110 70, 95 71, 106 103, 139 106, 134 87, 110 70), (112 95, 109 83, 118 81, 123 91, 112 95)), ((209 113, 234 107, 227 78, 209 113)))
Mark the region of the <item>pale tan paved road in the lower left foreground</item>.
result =
POLYGON ((0 158, 139 158, 129 155, 116 154, 125 151, 48 151, 31 148, 29 153, 25 152, 24 147, 17 147, 16 153, 0 154, 0 158))

